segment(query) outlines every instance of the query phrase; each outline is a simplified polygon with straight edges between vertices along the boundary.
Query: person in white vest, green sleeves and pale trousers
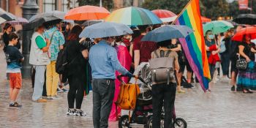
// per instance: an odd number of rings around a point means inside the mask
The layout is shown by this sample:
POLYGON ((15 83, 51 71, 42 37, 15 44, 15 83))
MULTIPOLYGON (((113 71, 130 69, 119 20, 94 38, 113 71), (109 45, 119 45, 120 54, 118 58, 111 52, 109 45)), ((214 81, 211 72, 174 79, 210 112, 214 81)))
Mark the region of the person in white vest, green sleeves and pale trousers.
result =
POLYGON ((50 41, 42 37, 44 29, 44 26, 39 26, 31 38, 29 64, 35 67, 36 72, 32 96, 34 102, 47 102, 46 99, 42 99, 42 91, 45 83, 46 65, 50 64, 50 59, 48 57, 50 41))

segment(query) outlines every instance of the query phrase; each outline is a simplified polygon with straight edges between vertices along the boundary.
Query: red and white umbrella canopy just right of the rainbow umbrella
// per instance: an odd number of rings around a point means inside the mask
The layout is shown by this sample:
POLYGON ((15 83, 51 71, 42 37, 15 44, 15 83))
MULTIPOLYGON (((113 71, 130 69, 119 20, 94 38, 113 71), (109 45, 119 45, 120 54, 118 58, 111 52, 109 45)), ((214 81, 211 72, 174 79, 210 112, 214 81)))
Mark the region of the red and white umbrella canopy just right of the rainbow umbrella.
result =
POLYGON ((157 15, 157 17, 160 18, 162 22, 172 22, 177 18, 177 15, 173 12, 170 12, 169 10, 153 10, 151 12, 157 15))

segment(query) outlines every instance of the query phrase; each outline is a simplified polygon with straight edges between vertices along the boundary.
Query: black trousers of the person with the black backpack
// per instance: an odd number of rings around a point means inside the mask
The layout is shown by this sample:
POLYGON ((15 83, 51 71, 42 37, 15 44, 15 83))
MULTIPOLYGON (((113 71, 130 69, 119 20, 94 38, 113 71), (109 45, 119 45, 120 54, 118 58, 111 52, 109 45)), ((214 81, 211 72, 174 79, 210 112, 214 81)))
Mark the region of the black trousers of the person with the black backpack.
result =
POLYGON ((67 94, 67 102, 69 104, 69 108, 75 108, 80 109, 82 102, 83 102, 83 96, 84 96, 84 86, 86 86, 85 80, 82 80, 83 78, 78 75, 70 75, 68 76, 69 80, 69 92, 67 94))

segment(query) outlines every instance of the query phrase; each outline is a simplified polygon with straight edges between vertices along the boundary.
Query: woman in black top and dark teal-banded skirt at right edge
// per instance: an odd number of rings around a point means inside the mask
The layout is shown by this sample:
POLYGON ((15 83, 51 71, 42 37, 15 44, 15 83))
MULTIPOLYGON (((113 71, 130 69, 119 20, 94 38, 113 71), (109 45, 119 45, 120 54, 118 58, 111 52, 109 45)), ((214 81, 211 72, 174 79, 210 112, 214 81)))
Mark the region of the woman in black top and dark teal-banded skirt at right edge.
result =
POLYGON ((251 42, 251 35, 246 34, 243 37, 243 42, 238 44, 240 59, 247 61, 246 69, 240 69, 238 72, 237 86, 242 89, 245 94, 252 94, 250 89, 256 89, 256 69, 255 69, 255 44, 251 42))

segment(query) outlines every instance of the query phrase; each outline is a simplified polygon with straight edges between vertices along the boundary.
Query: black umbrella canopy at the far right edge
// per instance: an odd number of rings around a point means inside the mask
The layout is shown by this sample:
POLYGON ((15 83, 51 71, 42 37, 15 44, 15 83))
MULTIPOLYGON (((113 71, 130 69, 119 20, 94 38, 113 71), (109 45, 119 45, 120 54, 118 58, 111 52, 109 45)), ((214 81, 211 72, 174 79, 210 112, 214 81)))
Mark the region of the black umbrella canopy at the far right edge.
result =
POLYGON ((238 24, 249 24, 255 25, 256 24, 256 15, 255 14, 241 14, 238 15, 236 19, 234 19, 238 24))

